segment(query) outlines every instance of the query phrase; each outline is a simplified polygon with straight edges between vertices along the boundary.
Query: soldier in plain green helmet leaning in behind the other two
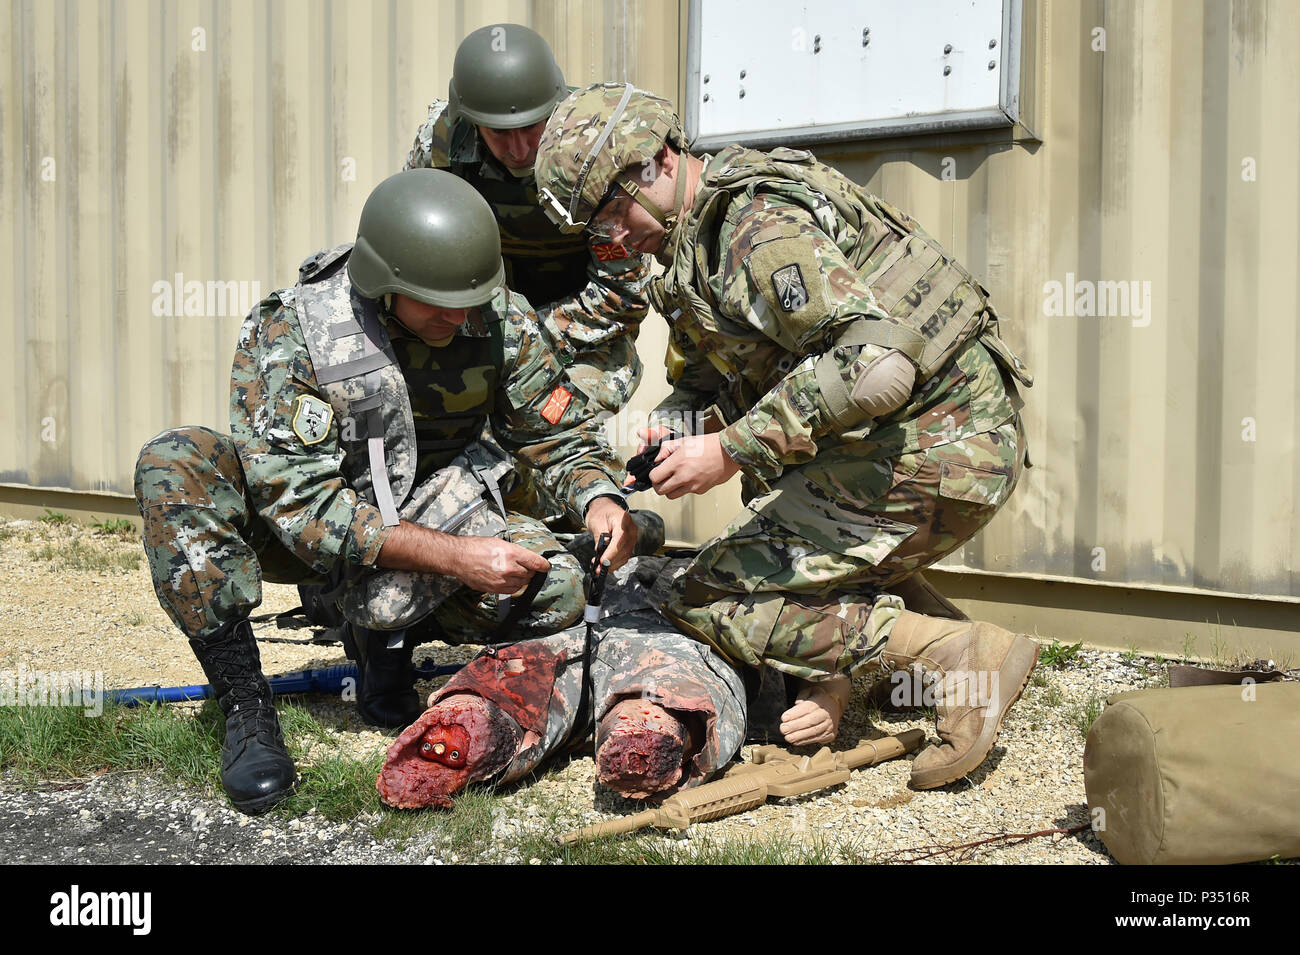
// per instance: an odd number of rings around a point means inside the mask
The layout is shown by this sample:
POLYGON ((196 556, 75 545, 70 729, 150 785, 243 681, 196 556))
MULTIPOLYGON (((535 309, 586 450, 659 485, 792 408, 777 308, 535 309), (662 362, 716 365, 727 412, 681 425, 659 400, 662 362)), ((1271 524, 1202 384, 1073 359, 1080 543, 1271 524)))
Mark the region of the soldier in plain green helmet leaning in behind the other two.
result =
POLYGON ((566 95, 550 47, 528 27, 485 26, 456 49, 448 99, 434 100, 404 169, 446 169, 493 207, 506 285, 528 299, 569 379, 618 412, 641 379, 636 340, 647 312, 649 256, 560 233, 542 213, 533 159, 566 95))

